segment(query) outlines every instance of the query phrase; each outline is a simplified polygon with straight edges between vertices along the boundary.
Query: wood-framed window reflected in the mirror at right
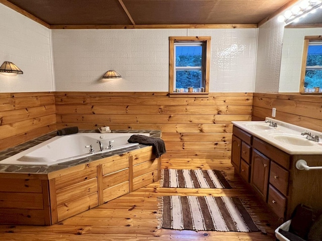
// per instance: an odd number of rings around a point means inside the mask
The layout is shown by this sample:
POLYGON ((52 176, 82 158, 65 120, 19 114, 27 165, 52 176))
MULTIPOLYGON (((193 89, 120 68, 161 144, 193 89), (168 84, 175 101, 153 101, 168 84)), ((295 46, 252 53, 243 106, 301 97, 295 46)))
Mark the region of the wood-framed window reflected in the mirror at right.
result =
POLYGON ((320 36, 304 38, 300 92, 322 92, 322 37, 320 36))

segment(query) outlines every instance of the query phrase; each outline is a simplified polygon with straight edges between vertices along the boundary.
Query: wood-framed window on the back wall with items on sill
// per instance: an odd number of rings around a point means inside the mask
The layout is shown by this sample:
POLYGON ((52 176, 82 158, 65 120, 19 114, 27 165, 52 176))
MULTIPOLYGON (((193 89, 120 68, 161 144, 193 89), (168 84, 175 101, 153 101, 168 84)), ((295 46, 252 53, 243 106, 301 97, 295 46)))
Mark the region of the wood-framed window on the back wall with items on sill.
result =
POLYGON ((209 92, 210 37, 169 37, 170 94, 209 92))

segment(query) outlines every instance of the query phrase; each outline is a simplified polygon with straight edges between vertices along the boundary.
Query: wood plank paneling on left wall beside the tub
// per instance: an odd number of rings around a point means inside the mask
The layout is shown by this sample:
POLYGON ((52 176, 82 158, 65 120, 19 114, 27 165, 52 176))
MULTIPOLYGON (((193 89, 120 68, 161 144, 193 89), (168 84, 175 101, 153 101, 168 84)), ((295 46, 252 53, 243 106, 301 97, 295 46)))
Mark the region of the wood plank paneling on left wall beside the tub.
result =
POLYGON ((52 92, 0 93, 0 150, 56 130, 52 92))

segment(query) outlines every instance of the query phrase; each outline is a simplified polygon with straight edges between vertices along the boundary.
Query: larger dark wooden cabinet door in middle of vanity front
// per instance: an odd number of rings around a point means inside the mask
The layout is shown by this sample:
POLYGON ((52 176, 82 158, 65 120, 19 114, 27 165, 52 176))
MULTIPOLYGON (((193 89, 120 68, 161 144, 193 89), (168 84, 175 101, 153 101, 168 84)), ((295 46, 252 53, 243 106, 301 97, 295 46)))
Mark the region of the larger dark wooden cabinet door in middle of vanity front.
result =
POLYGON ((251 185, 267 201, 270 160, 257 150, 253 150, 251 185))

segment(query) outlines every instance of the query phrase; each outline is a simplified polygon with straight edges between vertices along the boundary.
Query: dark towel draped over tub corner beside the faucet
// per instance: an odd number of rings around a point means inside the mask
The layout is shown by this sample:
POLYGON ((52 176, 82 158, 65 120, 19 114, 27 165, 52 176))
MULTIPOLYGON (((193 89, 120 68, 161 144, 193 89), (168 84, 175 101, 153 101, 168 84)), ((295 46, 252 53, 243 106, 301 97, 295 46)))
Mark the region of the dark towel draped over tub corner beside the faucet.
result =
POLYGON ((162 139, 154 137, 146 137, 143 135, 132 135, 128 143, 138 143, 142 145, 152 146, 152 151, 155 157, 159 157, 166 153, 166 145, 162 139))

